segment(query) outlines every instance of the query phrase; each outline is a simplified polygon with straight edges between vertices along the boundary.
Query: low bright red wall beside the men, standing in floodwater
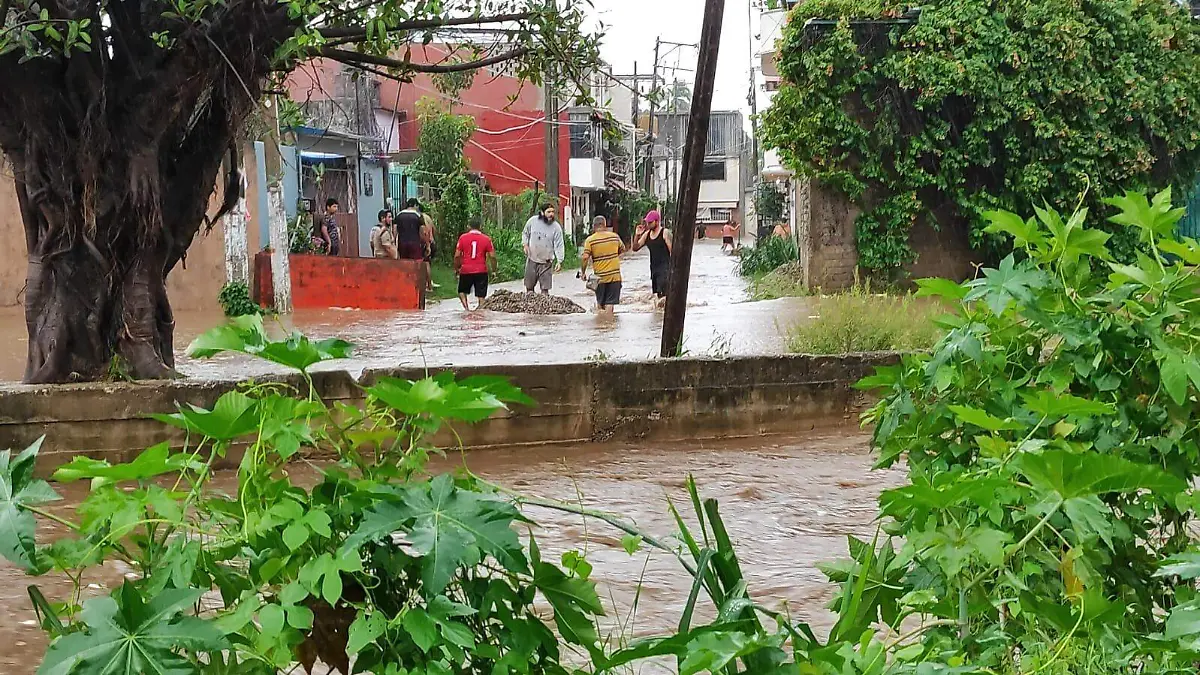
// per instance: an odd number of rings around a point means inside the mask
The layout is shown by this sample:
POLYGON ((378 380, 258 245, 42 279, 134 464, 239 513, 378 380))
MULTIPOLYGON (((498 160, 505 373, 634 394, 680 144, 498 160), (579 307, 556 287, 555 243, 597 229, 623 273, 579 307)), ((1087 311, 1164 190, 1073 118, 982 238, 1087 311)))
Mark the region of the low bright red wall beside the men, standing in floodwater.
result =
MULTIPOLYGON (((298 310, 424 310, 425 263, 380 258, 288 256, 292 306, 298 310)), ((271 256, 254 255, 254 301, 270 306, 274 297, 271 256)))

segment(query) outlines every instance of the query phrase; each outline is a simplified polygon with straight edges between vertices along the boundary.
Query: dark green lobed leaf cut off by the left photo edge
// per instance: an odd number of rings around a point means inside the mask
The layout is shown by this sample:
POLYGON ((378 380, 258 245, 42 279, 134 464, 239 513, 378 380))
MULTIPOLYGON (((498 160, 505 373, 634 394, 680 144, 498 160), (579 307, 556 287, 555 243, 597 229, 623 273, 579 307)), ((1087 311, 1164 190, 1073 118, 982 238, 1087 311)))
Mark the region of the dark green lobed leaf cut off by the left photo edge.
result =
POLYGON ((41 448, 38 438, 16 458, 11 450, 0 452, 0 556, 26 571, 34 568, 36 551, 36 522, 28 507, 59 498, 44 480, 34 479, 41 448))

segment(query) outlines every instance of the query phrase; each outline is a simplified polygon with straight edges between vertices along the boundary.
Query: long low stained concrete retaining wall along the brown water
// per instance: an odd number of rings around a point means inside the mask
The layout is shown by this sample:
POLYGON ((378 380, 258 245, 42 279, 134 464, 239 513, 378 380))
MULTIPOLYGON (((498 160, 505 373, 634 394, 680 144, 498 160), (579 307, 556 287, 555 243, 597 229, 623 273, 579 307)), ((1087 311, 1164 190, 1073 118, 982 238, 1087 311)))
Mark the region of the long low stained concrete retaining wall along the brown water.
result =
MULTIPOLYGON (((457 432, 464 446, 481 448, 810 429, 852 420, 863 399, 851 384, 895 358, 793 356, 458 369, 460 376, 511 377, 538 406, 508 411, 457 432)), ((371 370, 359 382, 332 371, 314 381, 328 402, 353 404, 361 400, 360 382, 370 386, 385 376, 413 380, 424 371, 371 370)), ((234 387, 234 382, 199 381, 0 387, 0 448, 24 448, 46 435, 42 472, 74 454, 127 461, 150 444, 182 440, 178 430, 146 414, 174 412, 184 404, 209 407, 234 387)))

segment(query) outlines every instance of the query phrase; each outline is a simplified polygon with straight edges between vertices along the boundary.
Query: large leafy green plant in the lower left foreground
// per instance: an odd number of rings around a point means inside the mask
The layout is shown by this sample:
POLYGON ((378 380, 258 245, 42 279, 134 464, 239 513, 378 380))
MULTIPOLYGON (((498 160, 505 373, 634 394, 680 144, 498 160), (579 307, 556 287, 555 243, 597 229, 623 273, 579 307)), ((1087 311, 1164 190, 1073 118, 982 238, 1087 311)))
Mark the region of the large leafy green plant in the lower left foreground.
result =
POLYGON ((211 408, 155 416, 186 431, 181 448, 125 464, 77 456, 55 472, 90 482, 73 515, 42 510, 56 495, 32 478, 37 444, 0 453, 0 555, 73 581, 53 603, 31 590, 54 638, 40 673, 266 674, 318 659, 343 673, 352 659, 382 674, 569 673, 539 595, 564 639, 600 653, 594 585, 541 560, 532 538, 522 545, 528 520, 511 500, 470 477, 422 476, 446 425, 532 401, 502 378, 448 374, 379 378, 362 408, 329 406, 310 371, 349 348, 272 340, 259 316, 202 335, 197 358, 252 354, 292 366, 301 384, 247 384, 211 408), (227 492, 214 464, 236 446, 227 492), (310 465, 314 483, 288 468, 310 455, 334 458, 310 465), (36 542, 37 518, 72 536, 36 542), (112 558, 137 577, 80 605, 83 577, 112 558))

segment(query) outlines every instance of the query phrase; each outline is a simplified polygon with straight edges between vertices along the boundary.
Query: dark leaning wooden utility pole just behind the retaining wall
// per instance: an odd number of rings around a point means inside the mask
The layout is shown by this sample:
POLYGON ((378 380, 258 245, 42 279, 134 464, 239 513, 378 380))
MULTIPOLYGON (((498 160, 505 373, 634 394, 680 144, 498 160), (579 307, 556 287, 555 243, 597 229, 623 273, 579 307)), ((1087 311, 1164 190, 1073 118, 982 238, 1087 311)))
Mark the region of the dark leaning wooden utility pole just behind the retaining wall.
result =
POLYGON ((688 143, 684 148, 683 179, 676 203, 676 239, 671 251, 671 283, 662 317, 664 357, 677 357, 683 347, 683 327, 688 311, 688 281, 691 276, 691 251, 696 245, 696 204, 700 202, 700 174, 708 144, 708 121, 713 113, 713 88, 716 82, 716 56, 721 46, 721 20, 725 0, 704 2, 704 25, 700 32, 700 62, 696 65, 696 89, 691 97, 688 143), (685 232, 683 228, 686 227, 685 232), (680 237, 679 233, 683 233, 680 237))

